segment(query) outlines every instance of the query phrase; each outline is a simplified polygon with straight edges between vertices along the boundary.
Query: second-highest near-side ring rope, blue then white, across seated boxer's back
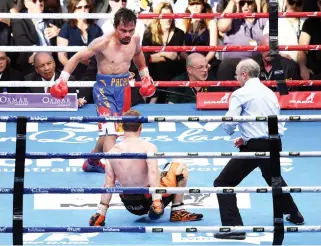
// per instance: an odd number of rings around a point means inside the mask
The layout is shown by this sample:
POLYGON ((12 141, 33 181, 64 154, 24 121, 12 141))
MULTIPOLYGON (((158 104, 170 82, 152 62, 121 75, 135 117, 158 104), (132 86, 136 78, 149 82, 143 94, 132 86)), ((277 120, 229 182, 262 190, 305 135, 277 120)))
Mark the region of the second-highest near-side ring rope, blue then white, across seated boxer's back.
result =
MULTIPOLYGON (((47 153, 29 152, 26 159, 161 159, 161 158, 235 158, 262 159, 269 158, 270 152, 148 152, 148 153, 47 153)), ((321 157, 321 151, 280 152, 280 157, 321 157)), ((16 153, 0 152, 0 159, 15 159, 16 153)))

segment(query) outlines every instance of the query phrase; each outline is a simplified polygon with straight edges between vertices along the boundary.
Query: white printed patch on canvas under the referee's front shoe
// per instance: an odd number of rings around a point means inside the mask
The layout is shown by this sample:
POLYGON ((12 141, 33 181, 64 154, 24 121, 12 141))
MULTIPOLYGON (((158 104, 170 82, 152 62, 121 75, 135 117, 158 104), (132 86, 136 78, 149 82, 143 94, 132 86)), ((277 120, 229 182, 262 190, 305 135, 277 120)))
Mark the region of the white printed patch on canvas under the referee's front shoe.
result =
MULTIPOLYGON (((214 238, 213 233, 172 233, 173 243, 217 243, 223 244, 226 242, 224 239, 214 238)), ((273 233, 247 233, 246 239, 242 240, 244 245, 256 244, 259 245, 262 242, 272 242, 273 233)), ((228 240, 230 244, 239 243, 239 240, 228 240)))

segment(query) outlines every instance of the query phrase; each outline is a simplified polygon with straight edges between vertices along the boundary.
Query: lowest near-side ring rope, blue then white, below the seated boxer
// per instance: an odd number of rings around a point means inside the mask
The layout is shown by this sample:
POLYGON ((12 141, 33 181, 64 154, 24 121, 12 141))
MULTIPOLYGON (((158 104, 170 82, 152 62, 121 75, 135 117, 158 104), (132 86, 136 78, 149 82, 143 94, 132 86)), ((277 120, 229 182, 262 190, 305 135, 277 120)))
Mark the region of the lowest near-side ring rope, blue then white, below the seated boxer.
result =
MULTIPOLYGON (((320 232, 321 226, 284 226, 284 232, 320 232)), ((274 226, 108 226, 108 227, 23 227, 23 233, 205 233, 205 232, 274 232, 274 226)), ((12 227, 0 227, 0 233, 12 233, 12 227)))

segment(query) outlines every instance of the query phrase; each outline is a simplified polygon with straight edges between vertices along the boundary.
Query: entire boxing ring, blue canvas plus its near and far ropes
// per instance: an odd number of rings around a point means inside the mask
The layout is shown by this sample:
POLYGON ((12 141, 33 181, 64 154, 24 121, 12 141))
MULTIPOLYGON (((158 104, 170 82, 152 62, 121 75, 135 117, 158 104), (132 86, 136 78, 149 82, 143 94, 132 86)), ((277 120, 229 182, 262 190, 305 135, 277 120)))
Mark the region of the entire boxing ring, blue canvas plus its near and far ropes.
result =
MULTIPOLYGON (((275 13, 274 13, 275 14, 275 13)), ((3 18, 33 18, 33 15, 1 14, 3 18), (8 16, 7 16, 8 15, 8 16)), ((38 15, 37 15, 38 16, 38 15)), ((46 14, 44 14, 46 16, 46 14)), ((47 18, 74 17, 75 14, 47 14, 47 18)), ((279 17, 320 17, 321 13, 287 13, 279 17), (299 16, 298 16, 299 14, 299 16)), ((106 18, 92 14, 90 18, 106 18)), ((244 14, 155 14, 140 18, 244 18, 244 14)), ((264 18, 267 14, 251 17, 264 18)), ((86 16, 88 18, 88 16, 86 16)), ((273 26, 273 25, 271 25, 273 26)), ((275 47, 274 47, 275 48, 275 47)), ((319 50, 319 46, 280 46, 280 50, 319 50)), ((0 47, 6 52, 78 51, 81 47, 0 47)), ((271 50, 261 46, 217 47, 144 47, 144 51, 249 51, 271 50)), ((30 82, 44 86, 46 82, 30 82)), ((2 86, 30 86, 29 82, 7 82, 2 86)), ((180 82, 180 86, 207 86, 205 82, 180 82)), ((223 85, 211 82, 213 86, 223 85)), ((279 85, 278 82, 266 82, 279 85)), ((320 81, 287 81, 288 85, 318 85, 320 81)), ((225 82, 235 86, 236 82, 225 82)), ((92 83, 74 82, 71 86, 92 83)), ((270 84, 271 85, 271 84, 270 84)), ((139 86, 139 82, 136 83, 139 86)), ((168 84, 157 83, 157 86, 168 84)), ((286 122, 282 138, 284 152, 279 164, 289 187, 266 187, 259 170, 252 172, 238 187, 213 188, 215 177, 230 158, 275 158, 270 153, 238 153, 233 139, 220 125, 222 121, 269 121, 263 118, 226 118, 225 111, 198 111, 195 105, 139 105, 141 118, 95 117, 94 105, 85 105, 77 112, 2 112, 0 116, 0 245, 270 245, 276 233, 284 234, 285 245, 321 244, 321 191, 319 178, 321 157, 321 111, 282 110, 279 121, 286 122), (17 115, 23 115, 18 118, 17 115), (182 116, 182 117, 179 117, 182 116), (288 117, 287 117, 288 116, 288 117), (142 121, 142 137, 155 143, 158 153, 110 156, 90 154, 97 138, 97 121, 142 121), (18 123, 17 123, 18 121, 18 123), (28 122, 27 122, 28 121, 28 122), (26 125, 26 132, 23 130, 26 125), (26 145, 26 150, 24 150, 26 145), (16 150, 16 151, 15 151, 16 150), (175 150, 175 152, 173 152, 175 150), (184 160, 189 169, 188 187, 184 189, 147 189, 142 187, 103 189, 103 175, 84 173, 81 169, 88 156, 107 158, 157 158, 160 168, 171 159, 184 160), (24 163, 23 163, 24 162, 24 163), (22 164, 22 165, 21 165, 22 164), (23 177, 24 176, 24 177, 23 177), (13 186, 14 184, 14 186, 13 186), (88 227, 96 211, 100 194, 108 193, 184 193, 186 208, 201 211, 204 219, 197 222, 170 223, 169 209, 158 221, 137 217, 113 196, 107 213, 106 227, 88 227), (293 193, 305 217, 304 226, 294 226, 273 216, 273 199, 282 193, 293 193), (238 207, 244 227, 222 227, 215 193, 237 193, 238 207), (23 198, 23 200, 22 200, 23 198), (13 204, 13 206, 12 206, 13 204), (23 213, 22 213, 23 212, 23 213), (244 231, 243 241, 215 239, 215 232, 244 231), (316 233, 312 233, 316 232, 316 233)), ((275 123, 275 122, 274 122, 275 123)), ((274 134, 275 135, 275 134, 274 134)), ((271 134, 271 140, 273 140, 271 134)), ((233 138, 236 136, 233 136, 233 138)), ((119 139, 120 140, 120 139, 119 139)), ((119 141, 118 140, 118 141, 119 141)), ((282 243, 282 242, 281 242, 282 243)))

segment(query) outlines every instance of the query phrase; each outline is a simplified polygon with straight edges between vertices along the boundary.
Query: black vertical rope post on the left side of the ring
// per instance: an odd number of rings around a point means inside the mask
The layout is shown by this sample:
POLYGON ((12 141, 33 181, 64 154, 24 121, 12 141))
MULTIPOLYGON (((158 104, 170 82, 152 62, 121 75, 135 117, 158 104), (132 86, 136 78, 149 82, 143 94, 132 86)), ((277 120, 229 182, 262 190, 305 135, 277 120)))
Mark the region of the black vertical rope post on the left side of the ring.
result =
POLYGON ((13 245, 23 245, 23 195, 26 160, 27 117, 17 119, 16 163, 13 186, 13 245))

